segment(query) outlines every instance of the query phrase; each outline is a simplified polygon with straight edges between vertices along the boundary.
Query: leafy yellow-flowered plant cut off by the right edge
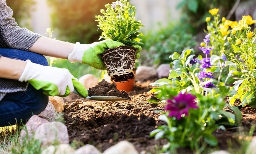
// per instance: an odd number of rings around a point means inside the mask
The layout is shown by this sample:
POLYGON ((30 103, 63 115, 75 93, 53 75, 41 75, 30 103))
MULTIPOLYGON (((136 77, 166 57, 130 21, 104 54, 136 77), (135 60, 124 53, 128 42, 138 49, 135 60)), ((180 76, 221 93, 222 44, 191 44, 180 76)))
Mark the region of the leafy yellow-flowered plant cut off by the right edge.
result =
POLYGON ((254 106, 256 105, 256 36, 251 32, 249 25, 256 23, 250 16, 243 16, 242 20, 238 22, 232 30, 235 41, 229 42, 232 46, 232 53, 227 53, 233 63, 238 66, 237 76, 234 78, 234 86, 232 89, 237 91, 229 98, 230 104, 233 104, 236 99, 241 100, 242 106, 245 104, 254 106))

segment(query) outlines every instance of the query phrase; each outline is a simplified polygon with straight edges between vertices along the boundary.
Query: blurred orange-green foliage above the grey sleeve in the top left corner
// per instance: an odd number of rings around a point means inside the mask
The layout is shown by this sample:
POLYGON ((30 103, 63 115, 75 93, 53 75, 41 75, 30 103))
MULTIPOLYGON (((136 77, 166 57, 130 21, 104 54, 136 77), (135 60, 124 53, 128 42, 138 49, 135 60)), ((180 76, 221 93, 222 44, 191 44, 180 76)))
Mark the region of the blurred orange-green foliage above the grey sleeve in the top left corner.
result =
POLYGON ((32 30, 29 23, 31 18, 31 12, 35 10, 36 2, 34 0, 6 0, 7 6, 13 10, 13 18, 20 27, 25 27, 32 30))

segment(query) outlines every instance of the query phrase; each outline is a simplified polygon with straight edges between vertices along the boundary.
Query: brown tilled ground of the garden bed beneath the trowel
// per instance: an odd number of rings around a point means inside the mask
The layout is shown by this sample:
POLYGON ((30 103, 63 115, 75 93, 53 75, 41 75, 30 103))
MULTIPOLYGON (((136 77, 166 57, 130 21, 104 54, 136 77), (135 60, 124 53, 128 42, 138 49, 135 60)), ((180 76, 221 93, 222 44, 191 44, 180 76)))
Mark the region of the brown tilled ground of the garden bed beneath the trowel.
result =
MULTIPOLYGON (((128 140, 141 152, 155 153, 166 144, 166 140, 154 140, 149 134, 156 126, 164 124, 158 121, 163 110, 163 103, 152 103, 147 100, 154 98, 147 93, 152 87, 148 86, 155 80, 136 82, 134 90, 129 92, 131 101, 93 101, 78 99, 64 104, 64 119, 68 127, 70 142, 78 141, 83 144, 93 144, 104 151, 121 140, 128 140)), ((217 130, 214 136, 219 141, 219 148, 240 148, 238 139, 245 139, 243 134, 248 132, 251 124, 256 123, 256 110, 249 107, 240 108, 243 114, 242 127, 217 130), (227 140, 232 142, 229 147, 227 140)), ((254 133, 254 136, 256 133, 254 133)), ((190 150, 180 150, 180 154, 192 154, 190 150)))

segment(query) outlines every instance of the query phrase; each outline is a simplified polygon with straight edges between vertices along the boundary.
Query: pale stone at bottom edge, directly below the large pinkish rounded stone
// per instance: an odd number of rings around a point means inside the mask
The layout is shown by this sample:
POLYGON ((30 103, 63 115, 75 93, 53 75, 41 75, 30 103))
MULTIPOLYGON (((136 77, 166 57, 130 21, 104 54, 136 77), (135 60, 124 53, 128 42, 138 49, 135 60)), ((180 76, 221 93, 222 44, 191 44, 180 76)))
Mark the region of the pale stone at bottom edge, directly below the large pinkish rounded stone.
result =
POLYGON ((69 144, 49 146, 41 154, 72 154, 75 151, 69 144))

